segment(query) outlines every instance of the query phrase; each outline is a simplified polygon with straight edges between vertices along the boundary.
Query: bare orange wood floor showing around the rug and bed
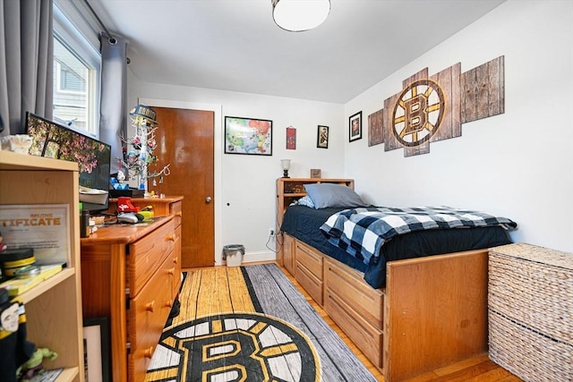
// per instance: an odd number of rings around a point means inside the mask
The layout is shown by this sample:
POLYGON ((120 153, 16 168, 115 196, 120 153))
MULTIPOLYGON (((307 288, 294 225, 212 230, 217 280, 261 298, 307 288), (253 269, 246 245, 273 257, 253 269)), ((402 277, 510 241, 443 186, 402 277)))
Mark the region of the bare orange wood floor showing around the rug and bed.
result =
MULTIPOLYGON (((244 266, 249 266, 249 264, 244 264, 244 266)), ((252 263, 254 264, 254 263, 252 263)), ((278 266, 280 267, 280 266, 278 266)), ((355 344, 348 339, 344 332, 338 327, 337 324, 329 318, 328 314, 318 305, 312 297, 304 291, 304 288, 298 284, 295 277, 291 276, 285 267, 280 267, 283 273, 288 277, 288 279, 295 284, 296 288, 304 294, 304 297, 312 305, 312 307, 319 312, 321 317, 332 327, 340 338, 348 345, 348 347, 355 352, 356 356, 360 361, 380 381, 384 381, 381 371, 376 369, 371 361, 364 356, 363 352, 358 349, 355 344)), ((192 269, 184 269, 192 270, 192 269)), ((483 354, 474 358, 470 358, 466 361, 461 361, 454 363, 444 368, 434 369, 430 372, 424 373, 415 378, 408 379, 408 382, 427 382, 427 381, 479 381, 479 382, 521 382, 521 379, 517 378, 511 374, 508 370, 501 368, 495 362, 491 361, 487 354, 483 354)))

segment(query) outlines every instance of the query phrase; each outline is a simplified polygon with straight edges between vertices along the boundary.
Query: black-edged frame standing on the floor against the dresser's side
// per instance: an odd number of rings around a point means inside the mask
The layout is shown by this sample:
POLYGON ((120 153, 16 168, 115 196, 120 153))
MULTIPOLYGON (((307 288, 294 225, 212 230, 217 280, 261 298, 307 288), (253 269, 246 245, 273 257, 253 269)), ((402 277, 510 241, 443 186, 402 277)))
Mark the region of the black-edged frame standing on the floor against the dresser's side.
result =
POLYGON ((111 382, 109 319, 83 320, 83 357, 86 382, 111 382))

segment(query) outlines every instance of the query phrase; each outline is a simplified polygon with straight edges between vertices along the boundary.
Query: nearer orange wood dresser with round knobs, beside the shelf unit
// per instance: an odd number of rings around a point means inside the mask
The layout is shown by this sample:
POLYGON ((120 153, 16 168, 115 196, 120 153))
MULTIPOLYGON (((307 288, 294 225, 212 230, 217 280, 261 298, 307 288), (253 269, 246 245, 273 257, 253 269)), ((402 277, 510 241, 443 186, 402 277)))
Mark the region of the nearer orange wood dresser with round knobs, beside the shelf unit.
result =
POLYGON ((142 381, 181 283, 180 220, 109 225, 81 239, 83 317, 107 317, 114 382, 142 381))

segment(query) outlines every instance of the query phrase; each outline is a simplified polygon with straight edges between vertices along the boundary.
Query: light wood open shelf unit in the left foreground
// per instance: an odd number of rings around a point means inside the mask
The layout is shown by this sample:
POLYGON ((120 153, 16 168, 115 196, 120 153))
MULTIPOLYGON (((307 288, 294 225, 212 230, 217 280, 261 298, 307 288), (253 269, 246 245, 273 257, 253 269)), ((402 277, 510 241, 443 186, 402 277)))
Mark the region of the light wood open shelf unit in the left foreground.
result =
POLYGON ((27 339, 58 353, 46 369, 64 368, 57 382, 84 381, 81 318, 79 172, 77 164, 0 151, 0 204, 67 204, 67 267, 19 299, 26 309, 27 339))

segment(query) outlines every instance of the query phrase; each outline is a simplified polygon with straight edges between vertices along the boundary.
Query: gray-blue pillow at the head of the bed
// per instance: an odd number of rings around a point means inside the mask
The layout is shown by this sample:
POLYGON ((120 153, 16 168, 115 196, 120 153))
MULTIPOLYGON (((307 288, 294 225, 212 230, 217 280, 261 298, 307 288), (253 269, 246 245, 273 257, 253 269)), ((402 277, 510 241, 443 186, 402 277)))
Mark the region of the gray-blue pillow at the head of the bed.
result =
POLYGON ((333 183, 304 184, 314 208, 356 208, 368 207, 363 199, 350 187, 333 183))

